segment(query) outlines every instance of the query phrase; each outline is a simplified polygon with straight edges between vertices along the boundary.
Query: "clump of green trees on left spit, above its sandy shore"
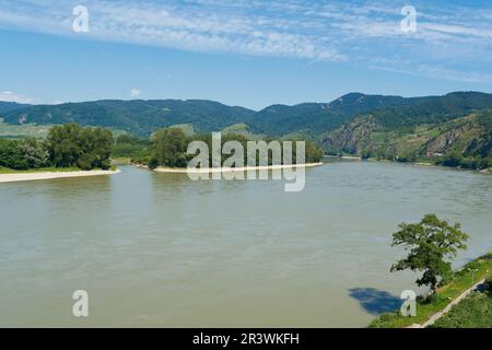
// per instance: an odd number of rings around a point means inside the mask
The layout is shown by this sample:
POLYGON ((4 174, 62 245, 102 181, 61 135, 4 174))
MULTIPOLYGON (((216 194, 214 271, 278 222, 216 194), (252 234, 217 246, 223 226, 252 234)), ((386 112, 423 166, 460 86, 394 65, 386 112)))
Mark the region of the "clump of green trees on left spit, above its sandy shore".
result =
POLYGON ((0 139, 0 166, 12 170, 78 167, 84 171, 110 167, 113 133, 104 128, 77 124, 54 126, 46 140, 0 139))

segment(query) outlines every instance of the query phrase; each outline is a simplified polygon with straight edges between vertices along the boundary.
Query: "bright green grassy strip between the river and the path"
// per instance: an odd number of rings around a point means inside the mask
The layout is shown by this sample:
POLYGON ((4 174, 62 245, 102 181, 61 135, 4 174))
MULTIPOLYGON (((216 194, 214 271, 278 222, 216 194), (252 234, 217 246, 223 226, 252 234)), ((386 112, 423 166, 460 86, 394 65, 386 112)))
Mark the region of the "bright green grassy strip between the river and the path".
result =
MULTIPOLYGON (((370 325, 372 328, 401 328, 412 324, 423 324, 433 314, 446 307, 454 299, 482 278, 492 276, 492 252, 465 265, 455 273, 454 279, 438 289, 437 295, 430 299, 420 298, 417 304, 417 316, 403 317, 400 312, 383 314, 370 325)), ((459 304, 458 304, 459 305, 459 304)), ((457 305, 457 306, 458 306, 457 305)), ((455 306, 455 307, 457 307, 455 306)))

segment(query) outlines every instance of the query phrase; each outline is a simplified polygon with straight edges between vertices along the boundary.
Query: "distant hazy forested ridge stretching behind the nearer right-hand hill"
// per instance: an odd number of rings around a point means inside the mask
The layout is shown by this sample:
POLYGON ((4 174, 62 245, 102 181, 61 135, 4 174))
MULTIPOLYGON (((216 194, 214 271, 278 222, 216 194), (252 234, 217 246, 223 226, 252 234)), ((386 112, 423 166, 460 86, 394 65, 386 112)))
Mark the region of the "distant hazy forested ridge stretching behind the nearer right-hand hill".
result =
POLYGON ((9 124, 55 125, 78 122, 122 129, 149 136, 157 129, 189 125, 195 132, 219 131, 244 124, 251 133, 282 137, 290 133, 316 138, 361 113, 396 106, 412 106, 433 97, 347 94, 331 103, 272 105, 259 112, 202 100, 95 101, 60 105, 24 106, 0 110, 9 124))

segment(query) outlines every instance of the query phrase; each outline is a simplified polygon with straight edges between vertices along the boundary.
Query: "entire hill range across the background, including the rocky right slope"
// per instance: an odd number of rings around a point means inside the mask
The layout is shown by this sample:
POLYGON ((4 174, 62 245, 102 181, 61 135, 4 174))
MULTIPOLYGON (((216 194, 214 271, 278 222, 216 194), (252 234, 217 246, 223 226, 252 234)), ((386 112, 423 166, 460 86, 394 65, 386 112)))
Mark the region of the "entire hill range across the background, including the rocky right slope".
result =
POLYGON ((223 131, 248 139, 309 139, 329 154, 487 168, 490 110, 492 94, 479 92, 411 98, 350 93, 330 103, 271 105, 259 112, 202 100, 0 103, 0 137, 43 137, 46 126, 68 122, 144 138, 173 127, 187 136, 223 131))

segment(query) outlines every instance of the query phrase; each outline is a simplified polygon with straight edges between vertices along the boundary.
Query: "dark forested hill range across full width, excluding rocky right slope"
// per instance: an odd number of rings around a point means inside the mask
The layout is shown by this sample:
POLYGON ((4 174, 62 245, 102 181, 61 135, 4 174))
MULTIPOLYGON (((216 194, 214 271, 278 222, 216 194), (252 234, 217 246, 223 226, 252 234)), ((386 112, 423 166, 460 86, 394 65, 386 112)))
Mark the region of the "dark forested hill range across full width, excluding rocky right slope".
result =
POLYGON ((356 117, 371 116, 371 120, 376 120, 379 127, 399 128, 442 122, 485 108, 492 108, 491 94, 459 92, 445 96, 405 98, 350 93, 330 103, 272 105, 259 112, 200 100, 106 100, 0 109, 0 117, 9 124, 78 122, 122 129, 141 136, 176 125, 190 125, 197 132, 209 132, 244 124, 254 133, 272 137, 304 133, 318 138, 356 117))

